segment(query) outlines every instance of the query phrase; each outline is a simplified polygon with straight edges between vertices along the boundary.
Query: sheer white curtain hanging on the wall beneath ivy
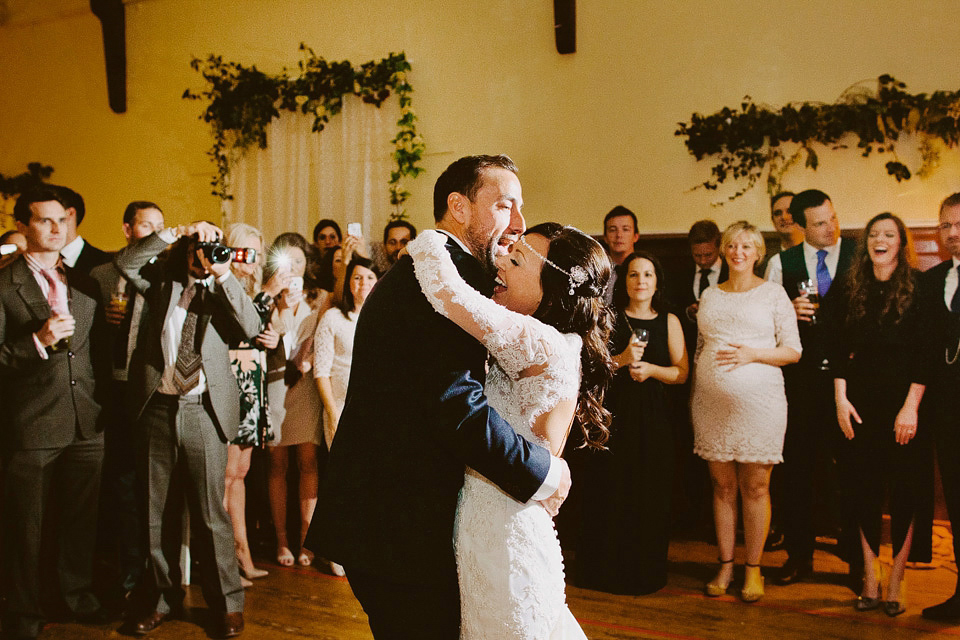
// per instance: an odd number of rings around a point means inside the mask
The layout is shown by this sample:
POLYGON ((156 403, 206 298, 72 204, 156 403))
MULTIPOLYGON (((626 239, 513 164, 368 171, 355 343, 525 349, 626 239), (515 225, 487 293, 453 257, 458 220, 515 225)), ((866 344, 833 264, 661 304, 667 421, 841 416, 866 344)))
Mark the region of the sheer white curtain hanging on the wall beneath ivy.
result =
POLYGON ((312 242, 321 218, 344 234, 359 222, 366 240, 377 240, 392 209, 387 180, 399 112, 392 96, 379 109, 347 96, 317 133, 312 115, 281 111, 267 127, 267 148, 251 147, 231 163, 224 223, 257 227, 267 245, 287 231, 312 242))

